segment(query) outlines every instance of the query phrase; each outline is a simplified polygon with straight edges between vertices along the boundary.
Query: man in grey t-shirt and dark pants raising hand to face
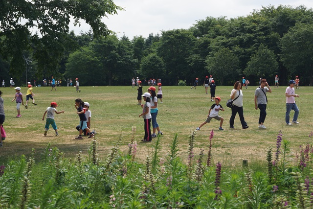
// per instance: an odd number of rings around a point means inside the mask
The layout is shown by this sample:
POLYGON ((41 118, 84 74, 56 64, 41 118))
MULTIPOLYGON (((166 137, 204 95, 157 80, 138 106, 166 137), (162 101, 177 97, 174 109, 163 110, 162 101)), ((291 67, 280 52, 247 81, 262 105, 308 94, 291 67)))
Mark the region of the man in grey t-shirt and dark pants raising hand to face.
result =
POLYGON ((266 96, 266 93, 271 93, 272 90, 270 89, 268 82, 266 79, 261 80, 261 85, 255 90, 254 93, 254 104, 255 109, 260 109, 260 117, 259 117, 259 128, 260 129, 266 129, 264 126, 265 117, 267 115, 266 113, 266 107, 268 104, 268 97, 266 96))

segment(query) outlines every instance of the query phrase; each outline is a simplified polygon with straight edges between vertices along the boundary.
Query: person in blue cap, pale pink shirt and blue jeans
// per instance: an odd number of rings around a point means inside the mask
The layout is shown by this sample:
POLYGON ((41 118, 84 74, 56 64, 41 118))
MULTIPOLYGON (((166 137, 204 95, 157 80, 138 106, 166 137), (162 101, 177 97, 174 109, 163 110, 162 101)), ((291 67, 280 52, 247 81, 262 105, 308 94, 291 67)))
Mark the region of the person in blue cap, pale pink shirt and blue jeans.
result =
POLYGON ((286 89, 286 116, 285 116, 285 120, 286 120, 286 123, 287 125, 292 125, 290 123, 290 112, 291 110, 294 111, 294 116, 293 116, 293 120, 292 120, 292 123, 295 123, 295 124, 299 124, 299 122, 297 121, 298 119, 298 116, 299 116, 299 109, 295 103, 295 100, 294 100, 294 97, 299 97, 298 94, 294 93, 294 84, 295 84, 295 81, 294 80, 290 80, 289 81, 289 87, 287 87, 286 89))

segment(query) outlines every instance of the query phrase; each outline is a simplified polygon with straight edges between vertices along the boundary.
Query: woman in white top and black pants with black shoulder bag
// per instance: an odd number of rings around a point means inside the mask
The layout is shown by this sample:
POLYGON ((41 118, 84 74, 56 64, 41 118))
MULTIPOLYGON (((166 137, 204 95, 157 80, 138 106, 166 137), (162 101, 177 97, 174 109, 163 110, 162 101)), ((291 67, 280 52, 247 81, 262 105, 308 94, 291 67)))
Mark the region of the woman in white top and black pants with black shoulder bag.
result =
POLYGON ((233 106, 231 107, 231 116, 229 119, 229 125, 230 128, 234 128, 234 120, 236 117, 236 114, 238 113, 241 125, 243 129, 249 128, 249 126, 246 124, 245 117, 244 117, 244 109, 243 109, 243 92, 241 90, 242 86, 239 81, 236 81, 234 85, 234 89, 230 93, 230 98, 233 101, 233 106))

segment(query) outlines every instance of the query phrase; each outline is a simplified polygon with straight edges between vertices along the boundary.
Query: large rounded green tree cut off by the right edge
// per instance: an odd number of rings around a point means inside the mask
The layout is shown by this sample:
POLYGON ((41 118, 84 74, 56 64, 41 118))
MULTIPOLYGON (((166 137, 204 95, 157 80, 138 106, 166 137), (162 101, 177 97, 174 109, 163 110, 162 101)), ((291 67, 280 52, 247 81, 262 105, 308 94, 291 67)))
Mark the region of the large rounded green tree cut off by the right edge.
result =
POLYGON ((281 39, 281 60, 289 76, 313 85, 313 24, 297 23, 281 39))

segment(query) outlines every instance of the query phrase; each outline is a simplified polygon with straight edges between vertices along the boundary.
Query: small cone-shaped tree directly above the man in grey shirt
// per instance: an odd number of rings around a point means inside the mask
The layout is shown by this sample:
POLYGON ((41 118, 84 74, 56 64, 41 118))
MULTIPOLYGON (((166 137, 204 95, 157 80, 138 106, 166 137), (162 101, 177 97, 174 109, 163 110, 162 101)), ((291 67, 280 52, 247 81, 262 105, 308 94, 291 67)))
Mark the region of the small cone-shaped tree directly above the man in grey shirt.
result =
POLYGON ((244 73, 246 76, 252 75, 260 78, 268 78, 274 77, 277 71, 277 57, 272 50, 261 44, 256 53, 251 56, 244 73))

